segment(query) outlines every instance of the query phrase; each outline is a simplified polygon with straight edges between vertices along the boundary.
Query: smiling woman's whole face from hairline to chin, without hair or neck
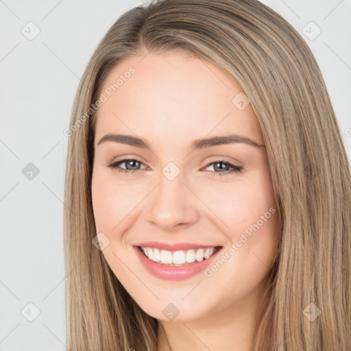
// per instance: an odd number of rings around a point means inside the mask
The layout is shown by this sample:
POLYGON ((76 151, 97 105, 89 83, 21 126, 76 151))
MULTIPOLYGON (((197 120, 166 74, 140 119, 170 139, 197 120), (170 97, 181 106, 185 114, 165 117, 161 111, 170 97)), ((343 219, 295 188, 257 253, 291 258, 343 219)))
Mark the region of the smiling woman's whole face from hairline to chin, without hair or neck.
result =
POLYGON ((157 319, 254 308, 265 286, 278 211, 265 147, 255 146, 261 128, 240 92, 214 64, 175 52, 128 58, 101 90, 92 182, 101 252, 157 319), (206 260, 197 250, 219 246, 206 260), (184 258, 195 262, 165 265, 184 258))

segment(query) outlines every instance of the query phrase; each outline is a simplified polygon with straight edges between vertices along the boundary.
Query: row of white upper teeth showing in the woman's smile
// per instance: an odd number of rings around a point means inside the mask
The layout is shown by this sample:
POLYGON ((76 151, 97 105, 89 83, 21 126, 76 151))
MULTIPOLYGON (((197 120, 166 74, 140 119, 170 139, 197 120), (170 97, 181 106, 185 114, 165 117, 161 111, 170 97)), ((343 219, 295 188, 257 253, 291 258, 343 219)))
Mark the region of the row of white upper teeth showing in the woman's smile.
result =
POLYGON ((197 250, 178 250, 175 252, 158 250, 153 247, 141 247, 145 256, 154 262, 165 265, 186 265, 195 261, 201 262, 215 253, 215 247, 201 248, 197 250))

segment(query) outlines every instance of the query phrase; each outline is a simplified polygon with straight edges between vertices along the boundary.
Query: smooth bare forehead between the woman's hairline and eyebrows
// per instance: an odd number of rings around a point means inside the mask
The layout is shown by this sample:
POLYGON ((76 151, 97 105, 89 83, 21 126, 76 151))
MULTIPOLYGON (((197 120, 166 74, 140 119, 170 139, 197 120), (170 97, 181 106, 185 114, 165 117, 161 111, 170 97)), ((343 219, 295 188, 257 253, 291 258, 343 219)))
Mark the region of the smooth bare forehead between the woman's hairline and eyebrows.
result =
POLYGON ((240 110, 233 101, 241 93, 237 82, 213 62, 184 53, 128 58, 101 93, 95 141, 110 132, 168 143, 228 132, 263 140, 252 106, 240 110))

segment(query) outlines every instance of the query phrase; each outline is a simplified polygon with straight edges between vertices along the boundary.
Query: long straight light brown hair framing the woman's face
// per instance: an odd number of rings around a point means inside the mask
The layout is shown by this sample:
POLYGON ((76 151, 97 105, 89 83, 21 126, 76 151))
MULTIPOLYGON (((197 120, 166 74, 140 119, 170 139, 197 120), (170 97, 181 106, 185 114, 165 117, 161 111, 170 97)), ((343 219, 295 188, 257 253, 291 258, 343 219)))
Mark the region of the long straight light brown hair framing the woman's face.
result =
POLYGON ((132 300, 92 244, 93 137, 102 83, 114 66, 148 51, 172 50, 225 70, 250 99, 262 128, 280 239, 252 350, 350 350, 348 158, 311 50, 285 19, 256 0, 158 0, 133 8, 88 62, 65 131, 67 348, 156 350, 157 319, 132 300), (320 315, 312 320, 311 311, 320 315))

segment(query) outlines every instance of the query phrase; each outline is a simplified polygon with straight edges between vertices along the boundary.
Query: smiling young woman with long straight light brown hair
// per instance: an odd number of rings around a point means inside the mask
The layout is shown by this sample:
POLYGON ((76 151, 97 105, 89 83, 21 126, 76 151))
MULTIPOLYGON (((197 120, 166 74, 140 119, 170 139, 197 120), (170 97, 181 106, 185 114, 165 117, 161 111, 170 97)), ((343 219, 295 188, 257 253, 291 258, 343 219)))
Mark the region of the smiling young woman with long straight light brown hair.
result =
POLYGON ((126 12, 66 134, 69 350, 350 350, 350 167, 313 54, 276 12, 126 12))

